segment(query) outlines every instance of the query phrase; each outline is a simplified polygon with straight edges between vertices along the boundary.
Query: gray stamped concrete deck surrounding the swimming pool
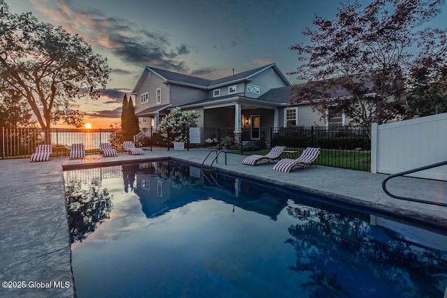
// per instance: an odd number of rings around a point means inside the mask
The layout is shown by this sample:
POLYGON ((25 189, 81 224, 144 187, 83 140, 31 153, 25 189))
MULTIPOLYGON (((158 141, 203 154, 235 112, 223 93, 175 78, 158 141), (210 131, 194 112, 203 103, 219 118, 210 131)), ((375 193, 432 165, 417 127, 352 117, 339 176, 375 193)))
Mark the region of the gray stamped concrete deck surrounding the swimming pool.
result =
MULTIPOLYGON (((143 156, 89 155, 85 160, 73 161, 68 157, 54 157, 43 163, 29 163, 28 158, 1 160, 0 297, 73 297, 75 293, 63 167, 138 162, 147 158, 173 158, 201 165, 207 154, 208 151, 145 151, 143 156), (15 288, 5 288, 5 281, 19 282, 26 288, 17 288, 17 283, 9 284, 15 288)), ((242 165, 243 158, 228 154, 224 165, 221 156, 213 167, 447 227, 447 207, 396 200, 383 193, 381 182, 386 175, 323 166, 290 173, 274 172, 272 163, 252 167, 242 165)), ((444 181, 397 177, 388 182, 388 189, 404 197, 447 202, 444 181)))

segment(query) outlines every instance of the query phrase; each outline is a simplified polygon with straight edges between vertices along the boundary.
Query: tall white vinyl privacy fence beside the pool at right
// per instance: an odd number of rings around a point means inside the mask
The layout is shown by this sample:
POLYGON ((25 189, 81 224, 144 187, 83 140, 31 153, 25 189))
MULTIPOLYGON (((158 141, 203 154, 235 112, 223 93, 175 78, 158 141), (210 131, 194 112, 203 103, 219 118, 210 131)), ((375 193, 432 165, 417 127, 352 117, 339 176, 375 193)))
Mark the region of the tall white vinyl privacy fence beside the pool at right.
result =
MULTIPOLYGON (((447 161, 447 113, 372 124, 371 172, 395 174, 447 161)), ((408 174, 447 181, 447 165, 408 174)))

